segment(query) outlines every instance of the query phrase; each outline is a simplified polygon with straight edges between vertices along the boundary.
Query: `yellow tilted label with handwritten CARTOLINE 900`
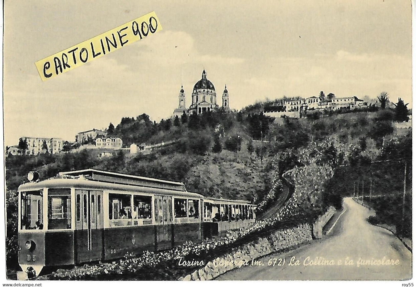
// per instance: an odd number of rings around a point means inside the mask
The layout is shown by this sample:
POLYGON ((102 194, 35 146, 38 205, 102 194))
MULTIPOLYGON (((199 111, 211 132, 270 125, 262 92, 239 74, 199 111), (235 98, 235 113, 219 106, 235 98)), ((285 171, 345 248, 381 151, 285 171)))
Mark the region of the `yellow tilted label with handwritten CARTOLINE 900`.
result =
POLYGON ((135 41, 144 39, 161 29, 162 26, 156 13, 150 12, 92 39, 37 61, 35 65, 40 78, 45 81, 135 41))

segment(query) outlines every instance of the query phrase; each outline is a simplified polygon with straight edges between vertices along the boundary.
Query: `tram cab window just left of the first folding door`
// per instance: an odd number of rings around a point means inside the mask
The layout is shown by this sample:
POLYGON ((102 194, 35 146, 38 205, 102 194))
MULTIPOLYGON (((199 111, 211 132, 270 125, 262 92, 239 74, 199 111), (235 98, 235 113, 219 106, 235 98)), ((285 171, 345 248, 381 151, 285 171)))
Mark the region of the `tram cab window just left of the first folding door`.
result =
POLYGON ((48 190, 48 229, 71 228, 71 189, 48 190))

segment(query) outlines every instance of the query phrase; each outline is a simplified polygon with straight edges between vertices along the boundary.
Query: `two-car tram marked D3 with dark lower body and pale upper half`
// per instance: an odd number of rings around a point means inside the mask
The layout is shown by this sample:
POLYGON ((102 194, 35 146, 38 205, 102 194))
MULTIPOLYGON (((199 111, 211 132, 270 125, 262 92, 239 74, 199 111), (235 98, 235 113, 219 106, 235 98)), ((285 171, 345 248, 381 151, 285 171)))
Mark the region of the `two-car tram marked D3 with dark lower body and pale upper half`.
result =
POLYGON ((182 182, 93 169, 36 175, 18 188, 20 278, 45 266, 166 250, 255 222, 254 204, 206 198, 182 182))

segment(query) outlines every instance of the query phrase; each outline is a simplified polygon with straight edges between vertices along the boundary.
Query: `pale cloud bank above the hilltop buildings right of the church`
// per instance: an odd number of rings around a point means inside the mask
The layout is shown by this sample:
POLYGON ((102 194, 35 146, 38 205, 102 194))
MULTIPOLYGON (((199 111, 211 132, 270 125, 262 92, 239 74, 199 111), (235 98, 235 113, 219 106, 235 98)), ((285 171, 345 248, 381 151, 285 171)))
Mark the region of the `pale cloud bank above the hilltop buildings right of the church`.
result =
MULTIPOLYGON (((261 74, 244 81, 241 93, 250 92, 259 100, 283 95, 307 97, 319 95, 319 91, 333 92, 338 97, 369 95, 374 98, 386 90, 394 100, 402 97, 405 102, 411 102, 411 85, 410 58, 338 51, 312 58, 273 58, 261 74)), ((253 97, 242 98, 245 102, 254 102, 253 97)))

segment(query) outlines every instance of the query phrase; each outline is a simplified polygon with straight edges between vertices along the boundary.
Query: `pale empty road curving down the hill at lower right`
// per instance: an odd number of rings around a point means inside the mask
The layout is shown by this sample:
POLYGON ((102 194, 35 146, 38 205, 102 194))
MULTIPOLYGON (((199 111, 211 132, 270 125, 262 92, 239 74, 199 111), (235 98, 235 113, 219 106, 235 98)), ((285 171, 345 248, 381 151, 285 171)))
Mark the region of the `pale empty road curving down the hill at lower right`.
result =
MULTIPOLYGON (((391 232, 366 221, 374 215, 352 198, 344 199, 345 212, 330 234, 322 239, 281 255, 261 258, 264 266, 243 266, 217 280, 407 280, 411 278, 411 252, 391 232), (295 256, 300 265, 288 266, 295 256), (310 260, 307 259, 309 256, 310 260), (304 265, 315 258, 334 260, 334 265, 304 265), (352 265, 346 265, 352 263, 352 265), (392 260, 397 265, 360 265, 362 260, 392 260), (272 258, 285 258, 283 266, 268 266, 272 258), (341 265, 338 265, 341 260, 341 265), (396 261, 398 260, 398 261, 396 261)), ((296 261, 294 261, 296 262, 296 261)), ((322 261, 321 261, 322 262, 322 261)), ((375 263, 380 263, 375 262, 375 263)), ((278 261, 277 261, 278 263, 278 261)), ((319 262, 317 262, 319 263, 319 262)), ((390 262, 388 262, 390 263, 390 262)))

